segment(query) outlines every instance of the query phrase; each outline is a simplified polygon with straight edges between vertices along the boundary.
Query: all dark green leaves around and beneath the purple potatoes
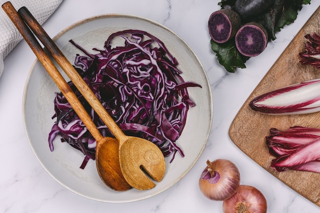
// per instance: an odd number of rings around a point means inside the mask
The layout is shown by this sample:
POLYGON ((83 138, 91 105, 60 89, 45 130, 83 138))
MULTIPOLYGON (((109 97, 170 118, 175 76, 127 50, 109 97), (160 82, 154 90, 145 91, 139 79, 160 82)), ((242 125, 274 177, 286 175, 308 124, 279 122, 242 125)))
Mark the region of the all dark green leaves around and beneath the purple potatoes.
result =
MULTIPOLYGON (((231 9, 236 0, 221 0, 218 3, 221 9, 231 9)), ((280 32, 285 25, 294 22, 302 5, 310 4, 311 0, 275 0, 275 2, 261 15, 245 20, 244 23, 258 22, 268 32, 269 41, 276 39, 276 33, 280 32)), ((235 40, 231 39, 223 44, 216 43, 211 39, 211 48, 216 53, 219 63, 228 72, 235 72, 236 68, 246 68, 245 62, 249 57, 242 56, 236 48, 235 40)))

